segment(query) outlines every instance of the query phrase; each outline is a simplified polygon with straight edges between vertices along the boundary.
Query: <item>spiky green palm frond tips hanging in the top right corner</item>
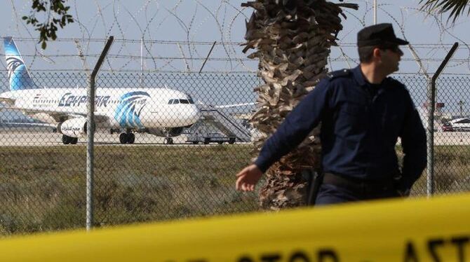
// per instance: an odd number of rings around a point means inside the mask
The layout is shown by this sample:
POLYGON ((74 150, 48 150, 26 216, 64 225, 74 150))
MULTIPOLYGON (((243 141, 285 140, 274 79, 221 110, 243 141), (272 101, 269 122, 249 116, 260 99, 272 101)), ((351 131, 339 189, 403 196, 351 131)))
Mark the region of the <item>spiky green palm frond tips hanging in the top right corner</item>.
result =
POLYGON ((463 15, 465 10, 466 15, 470 15, 469 0, 420 0, 419 5, 421 10, 427 13, 448 13, 452 23, 457 20, 460 15, 463 15))

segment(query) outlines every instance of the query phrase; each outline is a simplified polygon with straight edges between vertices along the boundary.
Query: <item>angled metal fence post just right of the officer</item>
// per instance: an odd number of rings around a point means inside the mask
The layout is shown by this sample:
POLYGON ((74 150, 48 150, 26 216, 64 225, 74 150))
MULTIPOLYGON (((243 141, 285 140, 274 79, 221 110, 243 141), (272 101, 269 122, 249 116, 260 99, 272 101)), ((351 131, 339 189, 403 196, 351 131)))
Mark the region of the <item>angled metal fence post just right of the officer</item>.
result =
POLYGON ((452 48, 450 48, 449 53, 445 56, 443 62, 439 65, 436 73, 429 81, 428 78, 428 119, 427 119, 427 197, 431 197, 434 194, 434 105, 436 104, 436 81, 437 78, 441 75, 445 66, 448 64, 452 55, 454 55, 455 50, 459 43, 455 42, 452 48))

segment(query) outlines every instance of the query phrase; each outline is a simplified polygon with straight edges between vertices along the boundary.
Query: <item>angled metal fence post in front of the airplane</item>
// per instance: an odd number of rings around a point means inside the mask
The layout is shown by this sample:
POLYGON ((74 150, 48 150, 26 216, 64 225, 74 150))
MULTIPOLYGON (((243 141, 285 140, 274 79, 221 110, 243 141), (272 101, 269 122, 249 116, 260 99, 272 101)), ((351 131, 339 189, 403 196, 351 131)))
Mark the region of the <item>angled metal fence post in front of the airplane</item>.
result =
POLYGON ((86 112, 86 230, 93 226, 93 163, 94 152, 93 144, 95 139, 95 78, 100 67, 105 60, 109 48, 113 42, 114 36, 109 36, 105 48, 102 50, 95 68, 88 78, 87 88, 87 112, 86 112))

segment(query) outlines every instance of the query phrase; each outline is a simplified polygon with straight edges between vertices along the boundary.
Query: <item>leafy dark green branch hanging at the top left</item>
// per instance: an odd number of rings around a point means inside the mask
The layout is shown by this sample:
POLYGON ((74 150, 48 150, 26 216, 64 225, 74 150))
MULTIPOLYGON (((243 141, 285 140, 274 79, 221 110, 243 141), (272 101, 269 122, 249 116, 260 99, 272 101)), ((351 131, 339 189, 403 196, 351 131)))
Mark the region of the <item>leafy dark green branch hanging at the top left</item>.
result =
POLYGON ((31 13, 29 16, 23 16, 26 24, 31 24, 39 31, 39 43, 41 48, 46 49, 49 39, 57 39, 57 25, 60 28, 65 27, 67 23, 74 22, 72 15, 69 15, 70 6, 65 6, 66 0, 33 0, 31 13), (44 19, 40 22, 36 15, 44 12, 44 19))

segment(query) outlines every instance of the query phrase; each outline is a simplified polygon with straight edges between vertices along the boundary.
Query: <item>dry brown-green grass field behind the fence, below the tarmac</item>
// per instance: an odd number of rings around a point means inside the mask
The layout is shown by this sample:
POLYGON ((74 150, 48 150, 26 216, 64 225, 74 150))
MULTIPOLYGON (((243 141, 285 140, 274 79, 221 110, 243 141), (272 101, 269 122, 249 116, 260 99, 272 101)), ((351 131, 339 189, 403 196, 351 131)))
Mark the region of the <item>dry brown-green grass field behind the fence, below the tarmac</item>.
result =
MULTIPOLYGON (((249 163, 250 150, 98 146, 95 226, 257 211, 256 193, 234 190, 234 174, 249 163)), ((436 193, 469 191, 470 147, 435 152, 436 193)), ((412 195, 425 194, 423 175, 412 195)), ((83 228, 85 209, 85 146, 1 148, 0 235, 83 228)))

